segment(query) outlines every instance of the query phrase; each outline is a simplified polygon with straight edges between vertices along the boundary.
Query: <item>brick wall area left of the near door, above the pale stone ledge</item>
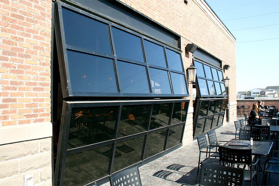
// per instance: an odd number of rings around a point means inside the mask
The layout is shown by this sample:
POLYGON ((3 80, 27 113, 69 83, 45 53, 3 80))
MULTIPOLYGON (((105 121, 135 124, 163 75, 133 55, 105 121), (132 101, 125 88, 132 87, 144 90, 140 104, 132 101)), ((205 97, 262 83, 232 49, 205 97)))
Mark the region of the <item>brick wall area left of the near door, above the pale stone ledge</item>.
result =
POLYGON ((51 7, 0 1, 0 126, 51 120, 51 7))

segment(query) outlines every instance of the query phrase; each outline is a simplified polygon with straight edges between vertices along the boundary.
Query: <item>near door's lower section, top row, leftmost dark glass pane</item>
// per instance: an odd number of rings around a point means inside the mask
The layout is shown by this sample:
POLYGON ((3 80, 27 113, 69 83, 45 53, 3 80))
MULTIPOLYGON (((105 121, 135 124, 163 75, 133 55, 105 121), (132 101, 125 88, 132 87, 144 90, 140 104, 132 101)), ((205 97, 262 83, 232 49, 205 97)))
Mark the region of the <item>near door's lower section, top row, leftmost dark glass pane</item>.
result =
POLYGON ((68 149, 114 138, 118 106, 72 108, 68 149))

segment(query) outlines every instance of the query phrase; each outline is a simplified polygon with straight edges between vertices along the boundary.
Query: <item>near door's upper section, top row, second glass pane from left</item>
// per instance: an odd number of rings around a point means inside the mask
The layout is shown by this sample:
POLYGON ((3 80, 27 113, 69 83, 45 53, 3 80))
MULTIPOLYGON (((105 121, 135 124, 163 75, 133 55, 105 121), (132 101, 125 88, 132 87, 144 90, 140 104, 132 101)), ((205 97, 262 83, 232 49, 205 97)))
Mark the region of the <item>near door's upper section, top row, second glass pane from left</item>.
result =
POLYGON ((116 55, 144 62, 141 38, 112 27, 116 55))

